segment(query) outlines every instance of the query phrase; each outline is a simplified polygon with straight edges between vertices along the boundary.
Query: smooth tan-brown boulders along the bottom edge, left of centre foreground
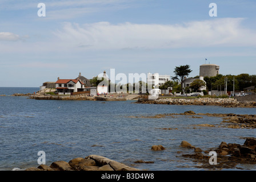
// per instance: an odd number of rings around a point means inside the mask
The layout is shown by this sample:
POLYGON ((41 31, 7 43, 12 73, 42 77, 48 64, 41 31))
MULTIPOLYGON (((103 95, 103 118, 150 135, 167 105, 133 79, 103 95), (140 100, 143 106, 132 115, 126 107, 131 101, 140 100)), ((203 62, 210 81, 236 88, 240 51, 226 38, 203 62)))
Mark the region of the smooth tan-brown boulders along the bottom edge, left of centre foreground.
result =
POLYGON ((139 171, 139 169, 103 156, 89 155, 86 158, 74 158, 69 162, 59 160, 51 163, 50 166, 41 164, 38 167, 26 168, 25 171, 139 171))

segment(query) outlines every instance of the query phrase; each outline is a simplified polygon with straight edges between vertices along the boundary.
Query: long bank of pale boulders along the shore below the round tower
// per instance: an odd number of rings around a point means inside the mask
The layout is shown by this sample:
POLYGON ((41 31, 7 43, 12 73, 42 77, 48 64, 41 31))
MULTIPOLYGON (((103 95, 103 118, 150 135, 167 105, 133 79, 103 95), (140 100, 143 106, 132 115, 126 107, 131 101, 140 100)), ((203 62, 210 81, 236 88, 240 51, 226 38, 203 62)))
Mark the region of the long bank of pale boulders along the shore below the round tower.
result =
POLYGON ((235 98, 161 98, 158 100, 139 99, 138 104, 166 104, 166 105, 211 105, 222 107, 256 107, 256 102, 238 102, 235 98))

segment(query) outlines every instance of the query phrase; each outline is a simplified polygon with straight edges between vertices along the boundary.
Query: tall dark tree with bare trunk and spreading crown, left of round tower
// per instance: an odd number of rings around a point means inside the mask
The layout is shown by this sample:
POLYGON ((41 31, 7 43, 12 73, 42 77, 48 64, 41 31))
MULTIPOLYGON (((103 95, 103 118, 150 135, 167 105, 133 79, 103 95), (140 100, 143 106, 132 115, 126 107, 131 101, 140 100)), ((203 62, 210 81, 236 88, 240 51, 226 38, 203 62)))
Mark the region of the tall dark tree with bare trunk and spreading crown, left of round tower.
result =
POLYGON ((190 65, 181 65, 179 67, 175 67, 174 73, 175 76, 171 77, 173 80, 178 80, 181 83, 181 90, 183 92, 183 80, 185 76, 189 76, 189 73, 192 72, 190 68, 190 65))

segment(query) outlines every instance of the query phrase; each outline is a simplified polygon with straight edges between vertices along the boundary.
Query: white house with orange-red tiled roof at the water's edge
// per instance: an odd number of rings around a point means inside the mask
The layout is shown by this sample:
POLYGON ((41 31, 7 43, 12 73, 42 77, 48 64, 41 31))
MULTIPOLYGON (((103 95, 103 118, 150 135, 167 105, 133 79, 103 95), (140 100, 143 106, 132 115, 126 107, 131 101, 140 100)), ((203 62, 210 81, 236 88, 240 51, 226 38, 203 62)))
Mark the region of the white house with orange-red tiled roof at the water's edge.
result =
POLYGON ((85 87, 80 80, 58 78, 55 88, 58 94, 70 95, 73 92, 82 92, 85 87))

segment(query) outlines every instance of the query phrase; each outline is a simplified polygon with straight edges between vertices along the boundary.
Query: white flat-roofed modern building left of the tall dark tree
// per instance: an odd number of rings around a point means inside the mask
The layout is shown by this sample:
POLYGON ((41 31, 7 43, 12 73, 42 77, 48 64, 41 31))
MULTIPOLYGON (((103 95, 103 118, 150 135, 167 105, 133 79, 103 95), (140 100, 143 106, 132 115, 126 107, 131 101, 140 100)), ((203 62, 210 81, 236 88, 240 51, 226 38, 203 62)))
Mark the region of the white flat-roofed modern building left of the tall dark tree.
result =
POLYGON ((151 84, 155 89, 170 80, 170 75, 159 75, 159 73, 147 73, 147 84, 151 84))

